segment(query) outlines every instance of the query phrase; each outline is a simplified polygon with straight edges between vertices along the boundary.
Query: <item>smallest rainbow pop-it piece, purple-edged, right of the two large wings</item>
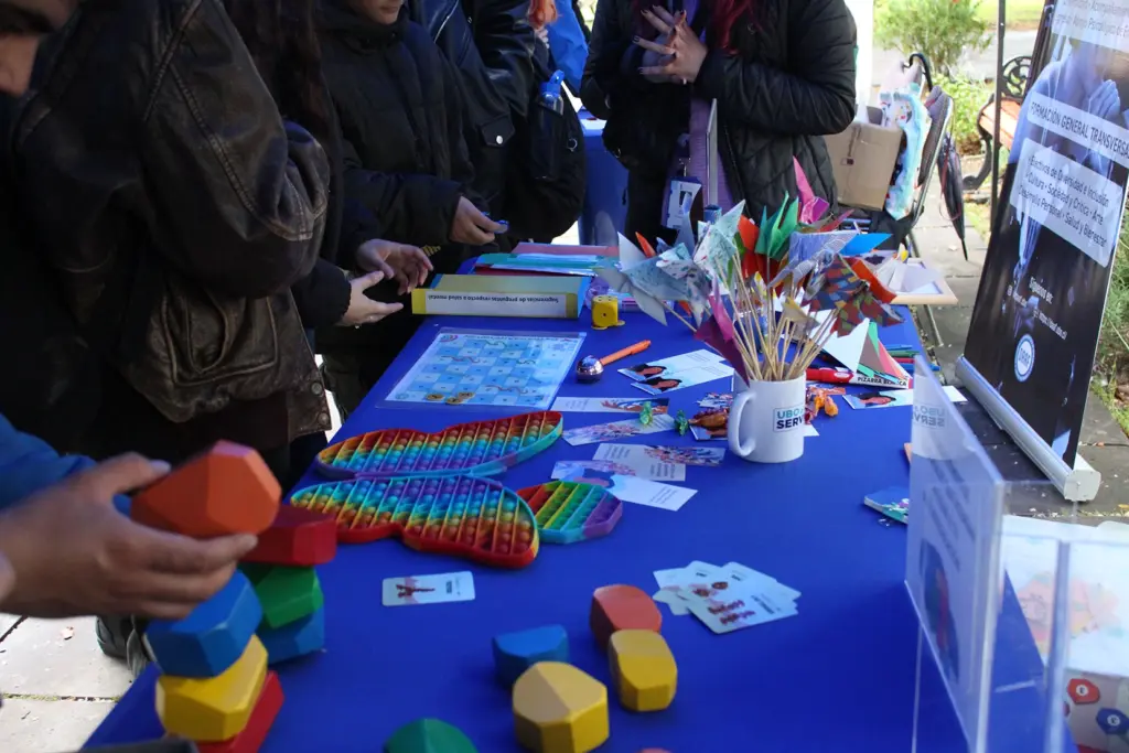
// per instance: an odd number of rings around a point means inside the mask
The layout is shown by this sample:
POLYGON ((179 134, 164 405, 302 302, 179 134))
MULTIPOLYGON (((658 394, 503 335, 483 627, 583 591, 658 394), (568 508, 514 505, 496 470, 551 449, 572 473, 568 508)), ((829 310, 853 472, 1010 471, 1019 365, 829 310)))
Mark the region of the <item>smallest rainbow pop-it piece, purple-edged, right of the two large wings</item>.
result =
POLYGON ((541 539, 550 544, 606 536, 623 516, 623 502, 588 483, 551 481, 517 493, 528 502, 541 539))

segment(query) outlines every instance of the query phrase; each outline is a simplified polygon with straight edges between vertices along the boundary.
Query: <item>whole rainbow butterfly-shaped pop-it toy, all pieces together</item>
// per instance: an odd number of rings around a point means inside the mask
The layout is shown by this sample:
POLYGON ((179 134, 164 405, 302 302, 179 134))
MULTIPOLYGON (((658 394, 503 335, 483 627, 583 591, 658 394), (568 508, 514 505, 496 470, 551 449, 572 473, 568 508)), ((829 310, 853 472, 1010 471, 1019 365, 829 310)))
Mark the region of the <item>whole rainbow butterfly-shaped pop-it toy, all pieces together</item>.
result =
POLYGON ((351 437, 317 456, 318 472, 339 481, 301 489, 290 502, 332 515, 342 542, 399 536, 421 551, 524 567, 542 535, 553 543, 590 539, 622 514, 619 500, 597 487, 570 484, 562 496, 553 482, 519 494, 483 478, 546 449, 562 427, 560 413, 543 411, 438 434, 386 429, 351 437), (537 493, 550 487, 555 493, 537 493))

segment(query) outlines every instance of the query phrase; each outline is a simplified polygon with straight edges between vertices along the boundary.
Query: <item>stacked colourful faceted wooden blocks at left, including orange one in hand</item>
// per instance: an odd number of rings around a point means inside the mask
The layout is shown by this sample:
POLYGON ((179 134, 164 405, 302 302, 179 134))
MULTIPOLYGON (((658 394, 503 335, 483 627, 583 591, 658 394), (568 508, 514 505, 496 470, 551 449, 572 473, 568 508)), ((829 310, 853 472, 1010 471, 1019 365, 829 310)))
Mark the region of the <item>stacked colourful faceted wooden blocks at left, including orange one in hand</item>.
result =
MULTIPOLYGON (((327 550, 324 531, 327 525, 332 534, 333 522, 303 516, 295 523, 289 508, 279 508, 281 494, 257 453, 219 443, 139 493, 130 515, 138 523, 200 539, 260 535, 251 554, 260 557, 260 562, 273 559, 294 564, 297 559, 306 566, 332 559, 336 540, 331 537, 334 543, 327 550)), ((285 658, 324 642, 324 621, 313 619, 315 611, 321 613, 321 589, 312 568, 305 570, 308 573, 300 585, 310 592, 305 599, 280 599, 277 592, 286 589, 269 585, 271 599, 264 604, 262 580, 281 580, 288 586, 292 578, 256 580, 236 571, 218 594, 187 618, 149 623, 145 641, 161 671, 157 713, 168 734, 195 742, 200 753, 254 753, 260 748, 283 697, 278 676, 268 669, 269 649, 256 631, 263 631, 269 614, 275 621, 269 629, 291 625, 299 619, 316 623, 316 630, 297 631, 299 637, 291 636, 289 642, 269 633, 268 642, 287 649, 285 658), (316 597, 312 594, 315 589, 316 597), (312 604, 316 605, 308 608, 312 604), (309 632, 317 633, 316 641, 309 639, 309 632)), ((271 656, 271 660, 275 658, 271 656)))

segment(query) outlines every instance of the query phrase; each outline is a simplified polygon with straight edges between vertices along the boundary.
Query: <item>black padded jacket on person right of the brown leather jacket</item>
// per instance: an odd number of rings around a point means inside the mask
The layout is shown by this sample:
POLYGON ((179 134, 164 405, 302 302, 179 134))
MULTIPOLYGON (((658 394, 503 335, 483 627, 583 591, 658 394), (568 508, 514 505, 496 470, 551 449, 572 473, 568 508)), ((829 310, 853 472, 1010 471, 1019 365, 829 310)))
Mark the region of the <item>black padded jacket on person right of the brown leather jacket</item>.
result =
POLYGON ((321 30, 347 204, 371 213, 387 240, 446 244, 460 198, 473 195, 457 75, 404 12, 382 26, 326 0, 321 30))

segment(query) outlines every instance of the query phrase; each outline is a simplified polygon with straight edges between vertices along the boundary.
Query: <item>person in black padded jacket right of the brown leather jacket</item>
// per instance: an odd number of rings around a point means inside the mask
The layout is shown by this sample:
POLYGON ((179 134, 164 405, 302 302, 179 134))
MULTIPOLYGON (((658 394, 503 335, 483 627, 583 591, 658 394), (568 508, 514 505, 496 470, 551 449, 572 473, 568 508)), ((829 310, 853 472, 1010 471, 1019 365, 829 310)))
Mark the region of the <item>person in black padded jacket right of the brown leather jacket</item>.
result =
MULTIPOLYGON (((341 124, 344 198, 380 237, 435 246, 435 270, 455 272, 469 249, 505 226, 472 184, 458 75, 401 0, 323 0, 325 78, 341 124)), ((382 286, 395 301, 406 292, 382 286)), ((377 326, 322 330, 323 371, 342 418, 352 413, 419 327, 403 309, 377 326)))

